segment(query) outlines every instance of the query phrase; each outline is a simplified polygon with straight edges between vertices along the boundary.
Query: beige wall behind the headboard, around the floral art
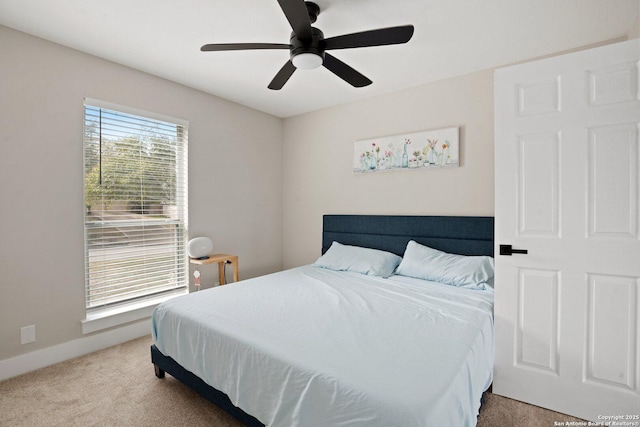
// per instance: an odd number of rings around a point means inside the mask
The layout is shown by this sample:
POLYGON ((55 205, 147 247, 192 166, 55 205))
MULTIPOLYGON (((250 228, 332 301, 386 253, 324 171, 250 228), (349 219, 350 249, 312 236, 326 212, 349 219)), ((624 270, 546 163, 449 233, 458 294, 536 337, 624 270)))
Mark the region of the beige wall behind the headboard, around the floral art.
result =
POLYGON ((287 119, 283 195, 285 268, 320 255, 323 214, 493 215, 493 70, 287 119), (459 168, 352 172, 356 140, 451 126, 459 168))

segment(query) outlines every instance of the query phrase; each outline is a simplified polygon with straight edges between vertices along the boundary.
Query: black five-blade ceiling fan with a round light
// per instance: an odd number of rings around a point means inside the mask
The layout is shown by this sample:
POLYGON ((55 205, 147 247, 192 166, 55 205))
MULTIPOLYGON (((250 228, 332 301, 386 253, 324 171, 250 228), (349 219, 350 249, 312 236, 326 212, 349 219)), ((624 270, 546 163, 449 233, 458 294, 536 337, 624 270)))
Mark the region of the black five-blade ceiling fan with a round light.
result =
POLYGON ((297 69, 312 69, 323 65, 326 69, 354 87, 363 87, 372 82, 349 65, 328 54, 327 50, 350 49, 356 47, 384 46, 406 43, 413 36, 413 25, 380 28, 324 38, 319 29, 312 27, 316 22, 320 7, 310 1, 278 0, 282 11, 291 24, 293 32, 289 44, 279 43, 227 43, 206 44, 203 52, 251 49, 289 49, 290 59, 269 83, 269 89, 282 89, 297 69))

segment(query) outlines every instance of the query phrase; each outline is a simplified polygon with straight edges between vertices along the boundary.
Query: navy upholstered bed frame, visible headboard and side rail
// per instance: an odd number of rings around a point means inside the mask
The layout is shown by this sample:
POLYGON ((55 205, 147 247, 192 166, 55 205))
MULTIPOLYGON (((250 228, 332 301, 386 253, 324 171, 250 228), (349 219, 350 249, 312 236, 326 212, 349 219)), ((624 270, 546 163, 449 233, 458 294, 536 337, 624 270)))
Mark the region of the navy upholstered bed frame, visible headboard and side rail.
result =
MULTIPOLYGON (((333 241, 380 249, 402 256, 410 240, 459 255, 489 255, 494 250, 493 217, 324 215, 322 253, 333 241)), ((247 426, 264 426, 231 403, 229 397, 151 346, 151 362, 158 378, 165 372, 213 402, 247 426)), ((483 396, 484 397, 484 396, 483 396)))

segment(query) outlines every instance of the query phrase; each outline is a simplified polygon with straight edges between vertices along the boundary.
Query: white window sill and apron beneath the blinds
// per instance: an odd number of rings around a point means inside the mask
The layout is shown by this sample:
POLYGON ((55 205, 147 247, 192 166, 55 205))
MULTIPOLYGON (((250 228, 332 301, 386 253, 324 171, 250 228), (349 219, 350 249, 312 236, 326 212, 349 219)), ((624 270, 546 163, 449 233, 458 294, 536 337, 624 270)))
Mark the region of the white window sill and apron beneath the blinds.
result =
POLYGON ((103 329, 146 319, 151 316, 153 309, 156 308, 158 304, 187 293, 189 293, 189 290, 185 288, 171 294, 164 294, 156 298, 149 298, 131 304, 92 310, 87 313, 87 318, 81 322, 82 334, 91 334, 103 329))

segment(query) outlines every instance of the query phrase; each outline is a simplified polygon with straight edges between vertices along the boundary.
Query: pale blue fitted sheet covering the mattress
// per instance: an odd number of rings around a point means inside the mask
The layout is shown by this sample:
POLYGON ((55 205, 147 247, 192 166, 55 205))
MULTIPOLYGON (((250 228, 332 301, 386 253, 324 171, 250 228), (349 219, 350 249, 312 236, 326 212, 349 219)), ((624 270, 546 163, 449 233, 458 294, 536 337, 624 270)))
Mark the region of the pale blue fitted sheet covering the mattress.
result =
POLYGON ((304 266, 175 298, 158 349, 270 426, 473 426, 493 293, 304 266))

